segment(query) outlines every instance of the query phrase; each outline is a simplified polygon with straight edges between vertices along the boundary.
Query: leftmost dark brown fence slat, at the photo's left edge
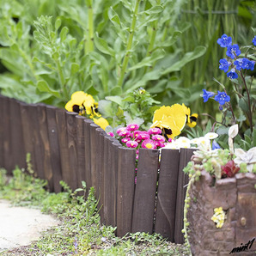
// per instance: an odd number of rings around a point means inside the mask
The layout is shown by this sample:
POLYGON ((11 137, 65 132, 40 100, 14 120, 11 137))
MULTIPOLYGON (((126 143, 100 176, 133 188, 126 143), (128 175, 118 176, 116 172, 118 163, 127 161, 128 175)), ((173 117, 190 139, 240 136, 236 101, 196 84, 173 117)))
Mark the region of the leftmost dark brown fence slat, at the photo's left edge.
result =
POLYGON ((3 163, 4 168, 8 174, 12 173, 12 150, 11 150, 11 134, 10 134, 10 116, 9 106, 10 101, 8 97, 3 97, 3 163))

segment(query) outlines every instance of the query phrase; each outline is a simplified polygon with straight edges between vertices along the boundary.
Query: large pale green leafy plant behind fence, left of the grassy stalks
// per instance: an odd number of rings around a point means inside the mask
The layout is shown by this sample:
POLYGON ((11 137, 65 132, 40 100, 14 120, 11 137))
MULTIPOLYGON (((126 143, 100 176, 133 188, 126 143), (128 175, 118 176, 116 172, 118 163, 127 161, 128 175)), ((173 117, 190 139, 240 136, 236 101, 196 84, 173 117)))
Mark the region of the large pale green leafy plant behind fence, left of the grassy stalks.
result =
POLYGON ((1 7, 0 58, 9 71, 0 76, 0 88, 21 101, 63 107, 77 90, 104 99, 162 80, 161 93, 168 74, 204 53, 197 47, 178 61, 173 46, 187 27, 174 26, 181 2, 56 1, 49 12, 54 19, 40 16, 34 24, 30 12, 44 13, 48 2, 38 1, 37 10, 13 2, 16 21, 9 3, 1 7))

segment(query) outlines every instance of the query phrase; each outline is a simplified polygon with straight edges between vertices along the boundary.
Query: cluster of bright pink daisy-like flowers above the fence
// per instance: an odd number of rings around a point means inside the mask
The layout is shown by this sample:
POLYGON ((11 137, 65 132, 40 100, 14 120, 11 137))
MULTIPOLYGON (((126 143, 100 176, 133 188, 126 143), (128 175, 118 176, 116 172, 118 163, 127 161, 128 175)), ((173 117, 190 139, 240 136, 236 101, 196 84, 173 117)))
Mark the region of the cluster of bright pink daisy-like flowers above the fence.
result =
MULTIPOLYGON (((121 142, 128 148, 160 149, 165 146, 165 137, 159 128, 150 128, 149 131, 139 131, 139 125, 131 124, 121 127, 117 134, 121 142)), ((138 153, 137 153, 138 155, 138 153)))

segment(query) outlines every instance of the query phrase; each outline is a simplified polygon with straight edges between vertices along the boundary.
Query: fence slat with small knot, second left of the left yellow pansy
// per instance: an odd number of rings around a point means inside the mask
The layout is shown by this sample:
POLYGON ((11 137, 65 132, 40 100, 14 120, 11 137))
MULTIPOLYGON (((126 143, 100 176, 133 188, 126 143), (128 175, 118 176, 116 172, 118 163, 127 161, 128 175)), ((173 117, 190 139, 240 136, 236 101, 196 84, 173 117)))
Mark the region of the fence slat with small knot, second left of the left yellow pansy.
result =
POLYGON ((46 107, 47 128, 48 128, 48 137, 49 137, 49 145, 50 145, 54 192, 61 192, 61 186, 59 184, 59 181, 62 180, 62 174, 61 174, 61 161, 60 161, 59 144, 58 144, 58 128, 57 128, 57 121, 56 121, 56 112, 57 112, 57 107, 52 107, 52 106, 46 107))

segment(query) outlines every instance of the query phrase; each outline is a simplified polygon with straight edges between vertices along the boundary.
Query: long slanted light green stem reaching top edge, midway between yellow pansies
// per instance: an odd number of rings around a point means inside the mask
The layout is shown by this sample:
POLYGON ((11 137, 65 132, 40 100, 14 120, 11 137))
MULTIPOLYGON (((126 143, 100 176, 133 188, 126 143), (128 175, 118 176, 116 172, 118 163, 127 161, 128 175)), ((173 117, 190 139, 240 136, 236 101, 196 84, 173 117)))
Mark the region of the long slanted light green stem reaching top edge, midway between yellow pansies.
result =
POLYGON ((138 11, 138 6, 139 6, 140 2, 141 2, 141 0, 137 0, 136 6, 135 6, 135 9, 134 9, 134 12, 133 12, 133 17, 132 17, 131 27, 130 27, 130 34, 129 34, 129 38, 128 38, 128 42, 127 42, 127 46, 126 46, 125 58, 123 60, 123 64, 122 64, 122 68, 121 68, 120 76, 119 76, 119 81, 118 81, 118 86, 120 88, 122 87, 123 82, 124 82, 125 71, 126 71, 126 68, 127 68, 129 57, 130 57, 132 40, 133 40, 134 30, 135 30, 136 21, 137 21, 137 11, 138 11))

